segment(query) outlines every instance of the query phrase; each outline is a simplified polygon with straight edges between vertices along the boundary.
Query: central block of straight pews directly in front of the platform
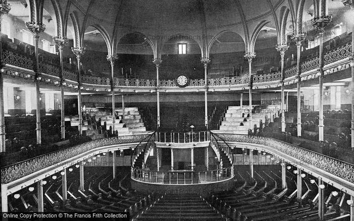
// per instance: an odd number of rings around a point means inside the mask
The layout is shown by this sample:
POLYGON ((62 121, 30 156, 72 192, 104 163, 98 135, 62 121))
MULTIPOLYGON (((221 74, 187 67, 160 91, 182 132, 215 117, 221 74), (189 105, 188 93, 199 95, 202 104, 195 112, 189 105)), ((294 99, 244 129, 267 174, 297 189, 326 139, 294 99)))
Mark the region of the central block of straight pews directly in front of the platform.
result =
POLYGON ((223 220, 200 196, 164 195, 134 220, 223 220))

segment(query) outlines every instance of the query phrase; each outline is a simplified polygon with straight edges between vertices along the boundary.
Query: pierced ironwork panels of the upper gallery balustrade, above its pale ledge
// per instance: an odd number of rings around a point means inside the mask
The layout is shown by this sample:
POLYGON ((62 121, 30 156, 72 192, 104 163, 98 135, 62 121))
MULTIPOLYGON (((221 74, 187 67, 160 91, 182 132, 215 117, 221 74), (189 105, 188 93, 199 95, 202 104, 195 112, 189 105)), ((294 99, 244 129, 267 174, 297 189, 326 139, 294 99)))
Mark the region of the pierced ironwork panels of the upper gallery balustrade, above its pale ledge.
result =
MULTIPOLYGON (((328 51, 325 54, 324 64, 329 65, 335 62, 344 60, 346 58, 351 57, 351 43, 347 43, 340 47, 334 48, 328 51)), ((34 69, 34 61, 30 56, 26 56, 24 54, 18 53, 13 50, 3 49, 3 61, 11 66, 20 67, 27 70, 34 69)), ((345 64, 348 64, 349 61, 345 61, 345 64)), ((311 60, 305 61, 301 63, 301 72, 309 72, 316 71, 319 65, 319 58, 313 58, 311 60)), ((12 67, 13 69, 13 67, 12 67)), ((60 68, 54 65, 50 65, 47 63, 40 63, 39 70, 43 74, 51 75, 54 77, 60 76, 60 68)), ((19 70, 21 71, 21 70, 19 70)), ((291 78, 297 75, 296 66, 290 67, 285 70, 285 79, 291 78)), ((18 75, 19 77, 24 75, 18 75)), ((77 81, 77 74, 68 70, 64 70, 64 79, 70 81, 77 81)), ((208 86, 237 86, 237 85, 248 85, 250 83, 250 79, 248 76, 237 76, 237 77, 224 77, 224 78, 209 78, 208 86)), ((265 82, 273 82, 281 80, 281 73, 268 73, 262 75, 254 75, 253 83, 265 83, 265 82)), ((92 85, 102 85, 102 86, 110 86, 110 79, 106 77, 95 77, 95 76, 85 76, 83 75, 81 78, 83 84, 92 84, 92 85)), ((160 80, 160 87, 177 87, 174 80, 160 80)), ((116 86, 126 86, 126 87, 156 87, 156 80, 154 79, 115 79, 116 86)), ((204 79, 191 79, 190 86, 204 86, 204 79)), ((277 86, 274 84, 271 87, 277 86)))

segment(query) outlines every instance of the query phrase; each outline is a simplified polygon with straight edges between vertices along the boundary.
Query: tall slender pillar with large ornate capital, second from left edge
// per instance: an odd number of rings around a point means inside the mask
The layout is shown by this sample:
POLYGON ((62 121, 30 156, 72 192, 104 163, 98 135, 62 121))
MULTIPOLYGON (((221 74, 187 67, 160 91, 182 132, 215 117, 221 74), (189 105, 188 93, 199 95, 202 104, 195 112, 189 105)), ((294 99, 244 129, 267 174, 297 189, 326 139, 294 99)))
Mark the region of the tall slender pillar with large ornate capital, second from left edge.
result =
POLYGON ((39 57, 38 57, 38 40, 39 40, 39 34, 42 33, 45 30, 45 26, 41 23, 31 23, 31 22, 26 22, 26 27, 27 29, 32 32, 33 34, 33 40, 34 40, 34 58, 35 58, 35 68, 34 68, 34 73, 35 73, 35 88, 36 88, 36 134, 37 134, 37 144, 41 144, 41 128, 40 128, 40 94, 39 94, 39 81, 41 79, 40 77, 40 71, 39 71, 39 57))

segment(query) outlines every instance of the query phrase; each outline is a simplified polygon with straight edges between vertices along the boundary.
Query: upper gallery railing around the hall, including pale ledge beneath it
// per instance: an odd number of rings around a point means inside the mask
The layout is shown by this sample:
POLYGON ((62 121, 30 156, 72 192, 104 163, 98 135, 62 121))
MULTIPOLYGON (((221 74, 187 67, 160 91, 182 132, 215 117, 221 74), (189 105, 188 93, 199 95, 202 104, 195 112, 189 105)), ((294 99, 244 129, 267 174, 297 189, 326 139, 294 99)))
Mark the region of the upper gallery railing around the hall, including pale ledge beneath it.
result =
MULTIPOLYGON (((337 48, 334 48, 330 51, 328 51, 325 56, 324 56, 324 65, 330 65, 330 64, 337 64, 339 61, 343 61, 343 64, 345 67, 348 67, 347 65, 350 63, 350 58, 352 56, 352 51, 351 51, 351 43, 347 43, 345 45, 339 46, 337 48)), ((32 79, 33 71, 34 70, 34 60, 33 57, 31 56, 25 56, 24 54, 18 53, 17 51, 12 51, 9 49, 3 49, 3 61, 8 65, 7 68, 12 68, 14 72, 5 72, 5 74, 9 74, 12 76, 18 76, 18 77, 23 77, 27 79, 32 79), (18 71, 16 67, 21 68, 18 71), (24 73, 21 73, 24 72, 24 73), (18 73, 20 72, 20 73, 18 73)), ((343 64, 337 64, 338 67, 344 67, 343 64)), ((317 73, 317 69, 319 67, 319 58, 315 57, 310 60, 307 60, 303 63, 301 63, 301 74, 303 73, 308 73, 313 71, 315 74, 317 73)), ((332 67, 333 69, 333 67, 332 67)), ((341 68, 337 68, 339 70, 341 68)), ((55 83, 58 84, 58 80, 60 80, 60 68, 47 64, 47 63, 40 63, 39 64, 39 71, 43 74, 45 74, 43 77, 46 77, 48 79, 47 83, 55 83)), ((333 69, 332 72, 335 70, 333 69)), ((297 68, 296 66, 292 66, 284 71, 284 77, 285 81, 287 79, 290 79, 292 82, 294 77, 297 75, 297 68)), ((65 80, 69 80, 71 82, 68 83, 68 86, 77 85, 77 74, 69 71, 69 70, 64 70, 63 77, 65 80)), ((315 77, 315 76, 314 76, 315 77)), ((281 72, 276 72, 276 73, 267 73, 267 74, 262 74, 262 75, 253 75, 252 76, 252 82, 253 85, 264 85, 266 83, 269 83, 267 87, 279 87, 279 83, 281 81, 281 72)), ((288 80, 289 81, 289 80, 288 80)), ((107 77, 96 77, 96 76, 86 76, 82 75, 81 76, 81 83, 83 86, 86 86, 86 89, 94 89, 95 86, 99 88, 105 88, 109 89, 110 88, 110 78, 107 77), (86 84, 86 85, 85 85, 86 84), (91 87, 93 86, 93 87, 91 87)), ((136 87, 137 89, 141 88, 150 88, 151 87, 156 87, 156 80, 154 79, 122 79, 122 78, 116 78, 115 79, 115 85, 117 87, 136 87)), ((237 77, 224 77, 224 78, 208 78, 207 79, 207 84, 209 87, 217 87, 217 86, 241 86, 245 87, 248 86, 250 83, 250 79, 248 76, 237 76, 237 77)), ((160 87, 177 87, 175 80, 159 80, 159 86, 160 87)), ((187 88, 191 87, 205 87, 205 80, 204 79, 191 79, 190 85, 187 88)), ((96 87, 96 88, 97 88, 96 87)))

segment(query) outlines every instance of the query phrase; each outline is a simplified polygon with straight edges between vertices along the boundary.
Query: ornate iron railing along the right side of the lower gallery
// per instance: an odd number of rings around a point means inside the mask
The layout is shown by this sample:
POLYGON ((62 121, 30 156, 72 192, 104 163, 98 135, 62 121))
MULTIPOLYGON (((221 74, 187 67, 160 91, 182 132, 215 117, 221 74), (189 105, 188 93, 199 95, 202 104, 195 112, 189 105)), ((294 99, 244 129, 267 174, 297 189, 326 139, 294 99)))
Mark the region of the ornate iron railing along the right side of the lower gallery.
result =
POLYGON ((298 146, 268 137, 257 137, 236 134, 218 134, 225 141, 261 144, 274 148, 282 153, 298 159, 302 164, 313 165, 321 170, 354 183, 354 165, 322 155, 298 146))

